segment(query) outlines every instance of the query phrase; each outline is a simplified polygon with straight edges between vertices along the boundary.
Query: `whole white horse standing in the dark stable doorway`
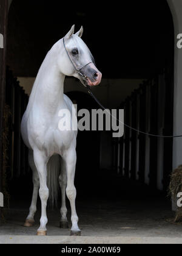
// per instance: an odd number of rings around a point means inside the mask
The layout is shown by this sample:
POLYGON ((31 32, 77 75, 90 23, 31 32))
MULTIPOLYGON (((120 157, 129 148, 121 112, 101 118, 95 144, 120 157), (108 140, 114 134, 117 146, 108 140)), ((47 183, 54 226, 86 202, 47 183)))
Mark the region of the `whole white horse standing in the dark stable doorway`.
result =
MULTIPOLYGON (((74 29, 73 25, 67 35, 55 43, 47 53, 33 85, 29 104, 21 123, 22 138, 29 148, 29 164, 33 171, 32 204, 24 226, 32 226, 34 223, 39 190, 41 219, 37 235, 47 234, 47 199, 49 196, 55 199, 58 176, 62 195, 60 227, 68 227, 67 194, 72 210, 71 235, 81 234, 76 214, 74 185, 77 132, 61 131, 58 128, 59 111, 67 109, 72 113, 72 101, 63 91, 66 76, 79 78, 75 66, 79 68, 79 72, 83 74, 90 86, 98 85, 102 75, 93 63, 92 54, 81 40, 83 27, 76 34, 74 29), (59 156, 61 156, 61 168, 59 156)), ((71 116, 67 121, 72 123, 72 119, 73 122, 77 122, 76 115, 71 116)))

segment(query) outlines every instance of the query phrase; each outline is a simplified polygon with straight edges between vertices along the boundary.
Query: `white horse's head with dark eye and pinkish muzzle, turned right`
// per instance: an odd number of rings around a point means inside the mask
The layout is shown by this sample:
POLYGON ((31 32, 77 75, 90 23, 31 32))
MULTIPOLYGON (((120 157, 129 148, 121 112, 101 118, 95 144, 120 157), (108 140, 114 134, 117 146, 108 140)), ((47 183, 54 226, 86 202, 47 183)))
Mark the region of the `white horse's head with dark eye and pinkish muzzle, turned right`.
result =
POLYGON ((64 64, 61 65, 61 70, 67 76, 79 78, 78 71, 83 75, 83 79, 87 84, 98 85, 101 82, 102 74, 96 68, 95 61, 89 48, 81 39, 83 35, 83 27, 74 34, 75 25, 64 37, 61 56, 64 57, 64 64), (76 71, 77 70, 77 71, 76 71))

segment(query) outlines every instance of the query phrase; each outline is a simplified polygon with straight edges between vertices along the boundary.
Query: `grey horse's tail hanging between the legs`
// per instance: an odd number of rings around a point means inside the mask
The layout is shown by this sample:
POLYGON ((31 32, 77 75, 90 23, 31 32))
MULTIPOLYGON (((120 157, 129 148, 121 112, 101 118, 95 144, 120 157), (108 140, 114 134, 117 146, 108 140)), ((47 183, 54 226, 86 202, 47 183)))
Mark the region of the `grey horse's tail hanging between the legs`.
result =
POLYGON ((61 172, 61 157, 52 155, 47 163, 47 187, 49 188, 50 207, 57 206, 59 191, 59 174, 61 172))

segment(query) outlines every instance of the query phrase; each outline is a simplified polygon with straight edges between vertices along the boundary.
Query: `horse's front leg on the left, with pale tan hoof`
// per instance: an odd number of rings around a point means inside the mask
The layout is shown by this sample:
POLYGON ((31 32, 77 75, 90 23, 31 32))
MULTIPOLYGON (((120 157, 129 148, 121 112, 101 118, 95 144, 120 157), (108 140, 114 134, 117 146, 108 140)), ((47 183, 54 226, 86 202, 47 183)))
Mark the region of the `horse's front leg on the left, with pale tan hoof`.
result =
POLYGON ((39 196, 41 198, 41 225, 37 231, 37 235, 47 235, 47 199, 49 197, 49 189, 47 188, 47 162, 49 160, 48 157, 45 156, 44 152, 39 150, 33 151, 33 158, 35 162, 36 169, 39 174, 39 196))

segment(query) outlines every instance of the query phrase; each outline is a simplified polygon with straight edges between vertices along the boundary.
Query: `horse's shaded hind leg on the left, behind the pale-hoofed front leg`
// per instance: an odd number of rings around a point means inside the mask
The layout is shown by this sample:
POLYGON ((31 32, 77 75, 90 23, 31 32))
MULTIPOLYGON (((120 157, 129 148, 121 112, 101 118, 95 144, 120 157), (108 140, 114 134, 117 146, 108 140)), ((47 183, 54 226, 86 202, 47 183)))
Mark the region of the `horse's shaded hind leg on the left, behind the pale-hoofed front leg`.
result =
POLYGON ((38 197, 38 189, 39 189, 39 176, 36 170, 36 166, 33 160, 33 151, 29 150, 29 165, 32 169, 32 180, 33 180, 33 194, 32 194, 32 203, 29 209, 29 215, 25 220, 25 227, 32 227, 34 224, 34 215, 36 213, 36 202, 38 197))

